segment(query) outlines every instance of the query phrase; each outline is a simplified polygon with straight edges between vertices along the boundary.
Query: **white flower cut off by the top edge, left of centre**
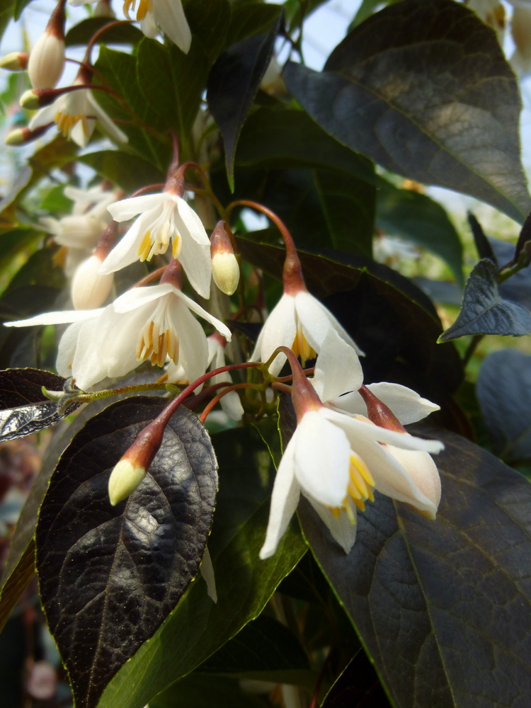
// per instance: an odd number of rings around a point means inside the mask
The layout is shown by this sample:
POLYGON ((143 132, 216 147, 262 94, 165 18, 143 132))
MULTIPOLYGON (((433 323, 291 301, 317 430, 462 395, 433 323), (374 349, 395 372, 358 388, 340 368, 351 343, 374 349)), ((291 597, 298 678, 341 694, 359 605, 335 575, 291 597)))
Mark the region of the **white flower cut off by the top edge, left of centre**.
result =
MULTIPOLYGON (((68 0, 68 2, 69 5, 78 7, 91 4, 96 0, 68 0)), ((123 12, 128 19, 131 19, 130 11, 135 12, 136 4, 136 0, 124 1, 123 12)), ((173 44, 188 54, 192 34, 185 18, 181 0, 139 0, 136 19, 146 37, 156 37, 160 27, 173 44)))

